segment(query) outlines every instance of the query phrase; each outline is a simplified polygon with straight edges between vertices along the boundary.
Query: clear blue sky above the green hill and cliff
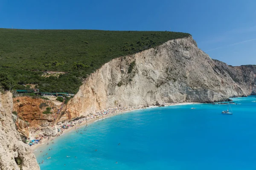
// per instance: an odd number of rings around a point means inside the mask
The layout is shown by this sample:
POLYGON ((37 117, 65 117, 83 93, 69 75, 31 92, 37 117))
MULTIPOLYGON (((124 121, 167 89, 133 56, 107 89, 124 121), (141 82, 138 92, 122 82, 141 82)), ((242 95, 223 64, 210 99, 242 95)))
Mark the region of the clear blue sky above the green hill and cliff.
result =
POLYGON ((230 65, 256 65, 256 0, 0 0, 0 28, 179 31, 230 65))

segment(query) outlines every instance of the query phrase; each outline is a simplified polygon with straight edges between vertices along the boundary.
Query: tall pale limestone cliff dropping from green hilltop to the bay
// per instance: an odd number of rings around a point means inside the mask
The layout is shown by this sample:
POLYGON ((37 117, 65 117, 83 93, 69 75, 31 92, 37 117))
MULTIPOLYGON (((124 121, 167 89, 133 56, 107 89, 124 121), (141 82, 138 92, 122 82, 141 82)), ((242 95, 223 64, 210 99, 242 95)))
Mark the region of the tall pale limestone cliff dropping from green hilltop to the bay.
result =
POLYGON ((63 119, 114 106, 214 102, 256 94, 256 66, 211 59, 192 37, 119 57, 91 74, 68 103, 63 119))

